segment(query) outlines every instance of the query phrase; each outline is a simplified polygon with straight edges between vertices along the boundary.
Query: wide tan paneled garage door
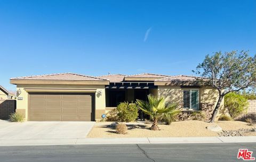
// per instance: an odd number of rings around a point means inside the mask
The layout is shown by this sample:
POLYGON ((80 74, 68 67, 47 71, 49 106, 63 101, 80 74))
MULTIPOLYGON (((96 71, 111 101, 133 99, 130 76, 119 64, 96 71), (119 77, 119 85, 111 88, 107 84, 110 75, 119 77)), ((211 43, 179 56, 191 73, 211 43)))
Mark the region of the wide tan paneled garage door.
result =
POLYGON ((29 121, 94 121, 93 93, 29 93, 29 121))

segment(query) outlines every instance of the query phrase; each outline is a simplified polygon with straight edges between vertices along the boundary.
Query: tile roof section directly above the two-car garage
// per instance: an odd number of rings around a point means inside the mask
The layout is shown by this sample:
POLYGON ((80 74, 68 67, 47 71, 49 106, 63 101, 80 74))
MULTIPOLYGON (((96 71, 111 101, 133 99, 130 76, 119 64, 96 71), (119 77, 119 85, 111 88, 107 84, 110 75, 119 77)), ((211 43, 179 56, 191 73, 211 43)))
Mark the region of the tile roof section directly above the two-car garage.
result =
POLYGON ((11 78, 11 80, 107 81, 106 79, 100 79, 94 76, 86 76, 86 75, 75 74, 75 73, 58 73, 58 74, 46 74, 46 75, 22 76, 17 78, 11 78))

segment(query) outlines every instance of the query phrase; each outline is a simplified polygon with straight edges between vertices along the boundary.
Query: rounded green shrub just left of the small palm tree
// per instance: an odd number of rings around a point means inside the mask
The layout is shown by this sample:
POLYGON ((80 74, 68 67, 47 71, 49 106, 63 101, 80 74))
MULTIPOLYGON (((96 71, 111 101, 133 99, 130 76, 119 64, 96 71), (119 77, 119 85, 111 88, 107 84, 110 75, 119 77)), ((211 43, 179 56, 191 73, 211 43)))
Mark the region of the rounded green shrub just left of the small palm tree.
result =
POLYGON ((120 103, 116 109, 117 116, 122 122, 132 122, 138 118, 138 108, 134 103, 120 103))

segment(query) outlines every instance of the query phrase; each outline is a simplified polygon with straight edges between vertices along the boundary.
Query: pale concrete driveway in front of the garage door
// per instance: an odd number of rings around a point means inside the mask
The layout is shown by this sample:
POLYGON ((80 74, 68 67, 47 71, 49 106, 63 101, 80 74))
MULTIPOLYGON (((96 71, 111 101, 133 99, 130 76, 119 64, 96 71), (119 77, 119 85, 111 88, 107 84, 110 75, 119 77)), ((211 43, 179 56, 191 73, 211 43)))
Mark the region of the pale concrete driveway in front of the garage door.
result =
POLYGON ((86 138, 95 122, 23 122, 0 120, 0 140, 86 138))

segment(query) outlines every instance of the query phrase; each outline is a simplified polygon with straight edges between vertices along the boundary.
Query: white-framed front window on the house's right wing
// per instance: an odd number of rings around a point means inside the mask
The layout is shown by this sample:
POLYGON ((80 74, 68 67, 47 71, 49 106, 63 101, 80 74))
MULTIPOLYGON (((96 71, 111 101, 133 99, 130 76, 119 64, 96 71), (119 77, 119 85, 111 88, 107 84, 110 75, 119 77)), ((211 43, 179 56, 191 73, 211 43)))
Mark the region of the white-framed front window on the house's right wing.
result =
POLYGON ((183 90, 183 107, 198 109, 198 90, 183 90))

